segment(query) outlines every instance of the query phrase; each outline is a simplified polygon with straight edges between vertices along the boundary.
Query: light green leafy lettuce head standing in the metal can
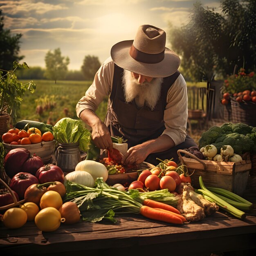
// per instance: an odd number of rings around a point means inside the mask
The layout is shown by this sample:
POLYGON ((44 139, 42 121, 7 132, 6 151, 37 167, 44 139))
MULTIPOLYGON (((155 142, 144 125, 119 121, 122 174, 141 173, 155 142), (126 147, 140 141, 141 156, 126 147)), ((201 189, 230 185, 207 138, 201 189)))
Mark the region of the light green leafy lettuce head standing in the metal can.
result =
POLYGON ((91 133, 86 129, 81 120, 64 117, 52 128, 54 138, 58 143, 76 143, 79 148, 87 151, 90 146, 91 133))

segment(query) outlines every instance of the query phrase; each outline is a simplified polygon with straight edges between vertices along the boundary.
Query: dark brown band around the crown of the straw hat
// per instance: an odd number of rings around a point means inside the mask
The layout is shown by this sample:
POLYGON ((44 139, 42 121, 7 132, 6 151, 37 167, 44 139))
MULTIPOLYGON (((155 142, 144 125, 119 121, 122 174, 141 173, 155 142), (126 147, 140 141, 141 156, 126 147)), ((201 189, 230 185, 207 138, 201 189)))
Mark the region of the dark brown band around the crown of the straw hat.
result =
POLYGON ((134 47, 133 44, 130 47, 129 53, 130 53, 130 56, 134 58, 136 61, 140 61, 148 64, 159 63, 164 59, 164 51, 157 54, 149 54, 149 53, 139 51, 134 47))

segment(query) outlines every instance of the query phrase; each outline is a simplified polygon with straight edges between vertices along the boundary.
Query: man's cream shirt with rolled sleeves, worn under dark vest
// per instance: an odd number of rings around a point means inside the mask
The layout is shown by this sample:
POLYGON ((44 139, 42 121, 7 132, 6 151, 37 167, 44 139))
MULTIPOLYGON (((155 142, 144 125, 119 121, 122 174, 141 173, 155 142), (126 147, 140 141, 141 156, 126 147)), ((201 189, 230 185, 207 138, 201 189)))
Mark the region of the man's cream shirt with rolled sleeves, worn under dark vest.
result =
MULTIPOLYGON (((115 63, 109 57, 95 74, 92 85, 85 92, 76 105, 76 115, 79 117, 84 109, 96 111, 104 97, 109 96, 112 90, 115 63)), ((188 97, 186 82, 180 74, 166 98, 166 109, 164 110, 164 124, 166 129, 162 134, 170 136, 175 145, 182 143, 186 137, 186 121, 188 118, 188 97)))

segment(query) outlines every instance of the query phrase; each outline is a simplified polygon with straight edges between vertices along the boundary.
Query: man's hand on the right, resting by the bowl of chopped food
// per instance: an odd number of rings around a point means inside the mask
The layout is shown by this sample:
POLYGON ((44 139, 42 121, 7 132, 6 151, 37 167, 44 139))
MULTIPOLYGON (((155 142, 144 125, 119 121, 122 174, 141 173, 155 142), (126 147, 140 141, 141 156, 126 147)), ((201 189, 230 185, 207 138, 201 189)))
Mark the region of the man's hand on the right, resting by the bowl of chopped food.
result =
POLYGON ((121 163, 124 165, 140 164, 148 155, 146 145, 139 144, 128 149, 128 151, 124 154, 121 163))

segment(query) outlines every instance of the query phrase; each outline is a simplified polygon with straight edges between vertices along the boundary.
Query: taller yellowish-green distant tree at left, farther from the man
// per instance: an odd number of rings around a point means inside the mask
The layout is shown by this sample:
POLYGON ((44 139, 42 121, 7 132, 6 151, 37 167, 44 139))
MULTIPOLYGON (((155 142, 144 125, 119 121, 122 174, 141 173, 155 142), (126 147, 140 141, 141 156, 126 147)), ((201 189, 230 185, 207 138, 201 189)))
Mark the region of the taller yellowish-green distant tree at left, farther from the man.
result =
POLYGON ((64 79, 67 74, 67 65, 70 63, 68 57, 61 56, 61 49, 57 48, 54 52, 47 52, 45 55, 45 77, 55 81, 64 79))

